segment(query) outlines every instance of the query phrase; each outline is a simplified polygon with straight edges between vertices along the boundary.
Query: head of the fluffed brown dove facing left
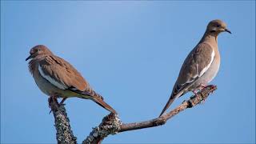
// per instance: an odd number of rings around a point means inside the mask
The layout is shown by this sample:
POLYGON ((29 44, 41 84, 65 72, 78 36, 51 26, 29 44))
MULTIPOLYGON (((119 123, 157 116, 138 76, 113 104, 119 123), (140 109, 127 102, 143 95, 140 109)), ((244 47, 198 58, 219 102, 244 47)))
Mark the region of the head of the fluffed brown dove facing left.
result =
POLYGON ((30 58, 35 58, 38 55, 48 55, 48 54, 52 54, 52 53, 46 46, 43 46, 43 45, 34 46, 30 50, 30 56, 26 58, 26 61, 29 60, 30 58))

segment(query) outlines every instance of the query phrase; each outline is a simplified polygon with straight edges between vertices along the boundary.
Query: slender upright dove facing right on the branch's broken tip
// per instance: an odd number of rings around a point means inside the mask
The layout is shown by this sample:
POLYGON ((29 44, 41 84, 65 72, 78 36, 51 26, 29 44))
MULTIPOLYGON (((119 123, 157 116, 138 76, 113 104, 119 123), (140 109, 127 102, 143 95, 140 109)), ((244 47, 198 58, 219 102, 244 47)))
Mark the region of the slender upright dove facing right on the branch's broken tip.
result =
POLYGON ((202 39, 183 62, 173 91, 160 116, 164 114, 175 98, 181 97, 188 91, 196 94, 197 90, 201 90, 214 79, 220 66, 218 34, 222 32, 231 34, 230 30, 226 28, 225 22, 219 19, 209 22, 202 39))

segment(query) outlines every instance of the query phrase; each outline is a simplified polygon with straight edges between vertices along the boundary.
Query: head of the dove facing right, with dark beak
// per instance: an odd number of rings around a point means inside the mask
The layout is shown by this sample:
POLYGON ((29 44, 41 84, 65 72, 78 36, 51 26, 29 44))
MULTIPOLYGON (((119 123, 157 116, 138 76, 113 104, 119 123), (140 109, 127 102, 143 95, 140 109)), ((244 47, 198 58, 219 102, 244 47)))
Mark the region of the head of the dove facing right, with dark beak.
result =
POLYGON ((206 32, 208 34, 212 34, 212 35, 218 35, 220 34, 221 32, 228 32, 231 34, 230 30, 228 30, 226 28, 226 23, 225 22, 222 22, 221 20, 219 19, 216 19, 216 20, 213 20, 213 21, 210 21, 208 26, 207 26, 207 30, 206 32))

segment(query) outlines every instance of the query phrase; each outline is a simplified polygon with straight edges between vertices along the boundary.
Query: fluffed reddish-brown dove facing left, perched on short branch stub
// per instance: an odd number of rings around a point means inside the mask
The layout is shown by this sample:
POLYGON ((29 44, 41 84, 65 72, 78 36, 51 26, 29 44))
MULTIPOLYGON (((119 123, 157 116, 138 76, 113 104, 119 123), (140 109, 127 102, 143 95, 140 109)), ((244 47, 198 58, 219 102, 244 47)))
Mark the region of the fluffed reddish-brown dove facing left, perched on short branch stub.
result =
MULTIPOLYGON (((78 97, 90 99, 106 110, 117 114, 116 111, 103 101, 89 86, 88 82, 69 62, 54 55, 46 46, 34 46, 30 50, 29 62, 30 73, 42 92, 51 98, 78 97)), ((61 102, 61 103, 62 103, 61 102)))

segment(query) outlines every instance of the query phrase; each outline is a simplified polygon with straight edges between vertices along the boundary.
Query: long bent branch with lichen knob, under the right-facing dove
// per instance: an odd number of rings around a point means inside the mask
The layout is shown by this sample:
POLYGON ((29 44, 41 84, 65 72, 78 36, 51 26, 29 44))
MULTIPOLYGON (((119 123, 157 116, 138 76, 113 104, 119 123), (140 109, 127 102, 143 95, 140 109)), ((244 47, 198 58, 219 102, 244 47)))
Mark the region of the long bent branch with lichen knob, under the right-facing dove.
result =
POLYGON ((82 143, 83 144, 86 144, 86 143, 99 144, 109 134, 118 134, 120 132, 124 132, 128 130, 138 130, 138 129, 164 125, 166 121, 174 117, 174 115, 180 113, 183 110, 186 110, 187 108, 194 107, 202 101, 205 101, 208 95, 210 93, 213 93, 213 91, 216 89, 217 89, 217 86, 206 86, 198 94, 190 97, 189 100, 182 102, 182 104, 177 106, 174 110, 171 110, 166 114, 163 114, 159 118, 154 118, 144 122, 134 122, 134 123, 123 124, 118 118, 118 115, 109 114, 102 119, 102 123, 99 126, 95 127, 93 131, 90 132, 90 135, 82 143))

